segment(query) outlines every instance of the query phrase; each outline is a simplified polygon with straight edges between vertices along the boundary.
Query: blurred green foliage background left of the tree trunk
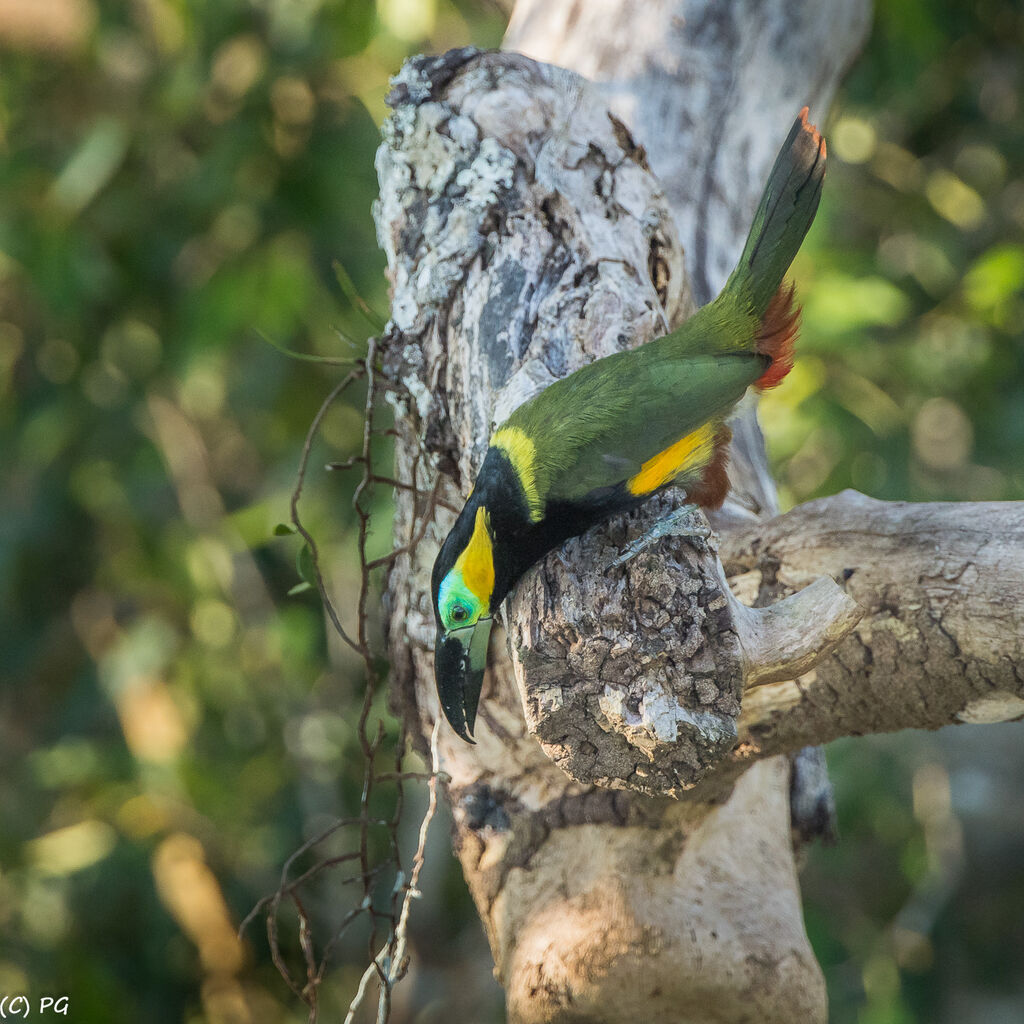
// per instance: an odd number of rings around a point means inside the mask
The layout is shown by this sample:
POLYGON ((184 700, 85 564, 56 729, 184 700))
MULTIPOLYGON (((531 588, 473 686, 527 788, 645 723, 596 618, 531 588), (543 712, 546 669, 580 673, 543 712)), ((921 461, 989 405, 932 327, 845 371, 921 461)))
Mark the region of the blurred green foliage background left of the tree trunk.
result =
MULTIPOLYGON (((339 371, 262 339, 362 352, 333 264, 386 310, 388 75, 501 26, 444 0, 68 0, 43 29, 24 7, 0 24, 0 992, 67 993, 77 1021, 304 1020, 260 926, 233 932, 357 809, 362 683, 329 668, 318 602, 286 599, 299 545, 273 536, 339 371)), ((361 400, 328 416, 305 502, 335 565, 354 481, 321 467, 357 450, 361 400)), ((343 616, 356 584, 334 580, 343 616)), ((346 908, 328 892, 317 924, 346 908)))

